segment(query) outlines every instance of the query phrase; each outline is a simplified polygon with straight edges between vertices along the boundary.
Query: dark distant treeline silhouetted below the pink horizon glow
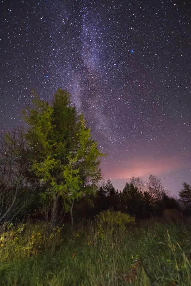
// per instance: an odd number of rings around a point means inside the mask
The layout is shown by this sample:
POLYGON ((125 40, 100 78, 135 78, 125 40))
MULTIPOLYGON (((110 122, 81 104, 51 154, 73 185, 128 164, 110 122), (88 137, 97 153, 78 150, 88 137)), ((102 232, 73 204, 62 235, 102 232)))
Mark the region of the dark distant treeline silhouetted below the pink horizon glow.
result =
POLYGON ((162 216, 164 209, 183 210, 191 214, 190 206, 185 206, 181 198, 169 196, 161 180, 152 174, 145 183, 140 177, 132 177, 121 191, 115 190, 108 180, 101 186, 95 196, 83 197, 74 203, 75 217, 93 219, 101 211, 112 208, 134 216, 136 219, 162 216))

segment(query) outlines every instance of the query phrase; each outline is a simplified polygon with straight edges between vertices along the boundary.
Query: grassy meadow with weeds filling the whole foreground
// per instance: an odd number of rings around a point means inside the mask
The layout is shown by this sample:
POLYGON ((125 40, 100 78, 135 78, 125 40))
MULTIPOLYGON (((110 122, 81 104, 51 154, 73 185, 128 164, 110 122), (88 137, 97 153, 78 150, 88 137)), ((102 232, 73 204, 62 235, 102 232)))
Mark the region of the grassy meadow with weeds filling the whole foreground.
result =
POLYGON ((191 285, 191 227, 1 227, 0 285, 191 285))

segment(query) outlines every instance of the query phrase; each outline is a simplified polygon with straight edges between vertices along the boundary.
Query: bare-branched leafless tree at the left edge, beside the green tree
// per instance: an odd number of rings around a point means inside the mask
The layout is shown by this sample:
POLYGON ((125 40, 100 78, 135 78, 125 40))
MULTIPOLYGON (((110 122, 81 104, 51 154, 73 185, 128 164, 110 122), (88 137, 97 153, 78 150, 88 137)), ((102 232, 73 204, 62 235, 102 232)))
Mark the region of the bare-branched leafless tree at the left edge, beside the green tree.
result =
POLYGON ((0 222, 23 215, 33 201, 37 181, 28 175, 32 152, 21 130, 0 135, 0 222))

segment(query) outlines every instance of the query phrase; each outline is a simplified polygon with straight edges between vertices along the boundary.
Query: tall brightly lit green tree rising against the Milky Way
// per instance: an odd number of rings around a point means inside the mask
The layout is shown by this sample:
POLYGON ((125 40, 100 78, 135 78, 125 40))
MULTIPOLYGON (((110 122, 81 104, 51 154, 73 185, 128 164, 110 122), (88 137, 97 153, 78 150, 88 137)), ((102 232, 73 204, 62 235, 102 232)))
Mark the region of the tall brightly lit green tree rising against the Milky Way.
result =
POLYGON ((96 190, 103 154, 91 138, 84 116, 71 105, 67 91, 58 89, 52 105, 35 97, 34 107, 24 112, 26 139, 35 151, 31 169, 47 185, 46 195, 53 200, 52 225, 57 222, 59 198, 66 210, 70 208, 73 225, 74 200, 96 190))

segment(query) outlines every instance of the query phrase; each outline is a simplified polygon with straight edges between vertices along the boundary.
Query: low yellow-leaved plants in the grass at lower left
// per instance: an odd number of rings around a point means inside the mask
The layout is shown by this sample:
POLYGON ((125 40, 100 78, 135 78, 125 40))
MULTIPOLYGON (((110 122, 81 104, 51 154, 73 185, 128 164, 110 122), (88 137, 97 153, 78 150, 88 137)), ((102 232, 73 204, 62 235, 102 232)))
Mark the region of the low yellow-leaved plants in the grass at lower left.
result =
POLYGON ((10 227, 0 234, 0 260, 11 261, 20 257, 38 255, 57 246, 62 241, 61 230, 64 227, 54 227, 47 236, 45 225, 18 225, 10 227))

